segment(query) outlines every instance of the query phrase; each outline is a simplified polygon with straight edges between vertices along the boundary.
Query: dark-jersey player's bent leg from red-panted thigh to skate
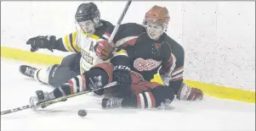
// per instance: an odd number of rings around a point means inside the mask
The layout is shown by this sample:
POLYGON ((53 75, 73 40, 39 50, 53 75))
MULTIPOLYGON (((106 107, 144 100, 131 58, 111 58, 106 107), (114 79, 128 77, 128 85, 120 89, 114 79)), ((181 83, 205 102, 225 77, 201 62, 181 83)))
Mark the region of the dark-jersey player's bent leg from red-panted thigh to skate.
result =
POLYGON ((141 80, 132 74, 131 91, 133 95, 123 97, 105 97, 103 108, 133 107, 133 108, 164 108, 174 100, 174 90, 154 82, 141 80))

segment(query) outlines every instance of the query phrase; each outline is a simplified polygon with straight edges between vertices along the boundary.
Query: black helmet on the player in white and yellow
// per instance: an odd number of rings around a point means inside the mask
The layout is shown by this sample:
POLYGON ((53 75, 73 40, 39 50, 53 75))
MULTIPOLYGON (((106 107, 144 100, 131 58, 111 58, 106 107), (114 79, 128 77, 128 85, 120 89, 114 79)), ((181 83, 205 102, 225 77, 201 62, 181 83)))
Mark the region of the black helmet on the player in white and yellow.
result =
POLYGON ((77 8, 75 19, 77 22, 86 21, 88 19, 100 19, 100 10, 95 3, 82 3, 77 8))

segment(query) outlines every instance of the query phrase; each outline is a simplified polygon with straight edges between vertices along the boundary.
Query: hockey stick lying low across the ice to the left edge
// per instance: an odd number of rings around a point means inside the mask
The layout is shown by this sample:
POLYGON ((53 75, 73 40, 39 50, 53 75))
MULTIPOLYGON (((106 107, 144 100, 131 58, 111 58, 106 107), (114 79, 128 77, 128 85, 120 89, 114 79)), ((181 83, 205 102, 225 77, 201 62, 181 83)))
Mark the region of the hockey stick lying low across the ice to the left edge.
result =
POLYGON ((53 100, 49 100, 49 101, 44 101, 42 103, 39 103, 37 105, 26 105, 26 106, 20 106, 20 107, 17 107, 17 108, 14 108, 14 109, 9 109, 9 110, 6 110, 6 111, 3 111, 1 112, 1 115, 4 115, 4 114, 9 114, 11 112, 19 112, 19 111, 22 111, 22 110, 25 110, 25 109, 29 109, 29 108, 32 108, 32 107, 35 107, 35 106, 43 106, 45 104, 54 104, 54 103, 57 103, 57 102, 60 102, 60 101, 63 101, 67 98, 71 98, 71 97, 74 97, 74 96, 80 96, 82 94, 87 94, 89 92, 94 92, 94 91, 97 91, 97 90, 102 90, 102 89, 105 89, 105 88, 109 88, 109 87, 112 87, 114 85, 117 85, 117 82, 111 82, 109 83, 108 85, 105 85, 103 88, 100 88, 100 89, 96 89, 96 90, 86 90, 86 91, 82 91, 82 92, 78 92, 76 94, 72 94, 72 95, 69 95, 69 96, 62 96, 62 97, 59 97, 59 98, 56 98, 56 99, 53 99, 53 100))

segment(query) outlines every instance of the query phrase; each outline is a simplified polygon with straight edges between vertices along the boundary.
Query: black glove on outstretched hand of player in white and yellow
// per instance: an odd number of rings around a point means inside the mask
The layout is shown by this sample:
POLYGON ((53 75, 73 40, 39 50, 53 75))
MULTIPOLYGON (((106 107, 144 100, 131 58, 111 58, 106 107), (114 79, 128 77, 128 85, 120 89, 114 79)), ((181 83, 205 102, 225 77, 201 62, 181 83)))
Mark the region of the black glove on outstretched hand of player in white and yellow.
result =
POLYGON ((31 45, 31 52, 36 52, 39 48, 46 48, 54 52, 55 41, 56 37, 54 35, 36 36, 26 41, 26 44, 31 45))

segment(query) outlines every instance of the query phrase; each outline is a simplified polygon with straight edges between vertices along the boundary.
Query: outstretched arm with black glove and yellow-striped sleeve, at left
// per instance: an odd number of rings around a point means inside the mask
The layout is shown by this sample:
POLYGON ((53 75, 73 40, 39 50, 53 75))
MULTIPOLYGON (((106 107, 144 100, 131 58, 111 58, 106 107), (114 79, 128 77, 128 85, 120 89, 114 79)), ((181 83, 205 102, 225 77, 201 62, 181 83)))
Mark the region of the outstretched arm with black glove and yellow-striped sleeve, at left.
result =
POLYGON ((52 52, 53 50, 62 52, 81 51, 80 47, 77 45, 77 31, 59 39, 56 39, 54 35, 36 36, 26 41, 26 44, 31 45, 31 52, 36 52, 40 48, 48 49, 52 52))

